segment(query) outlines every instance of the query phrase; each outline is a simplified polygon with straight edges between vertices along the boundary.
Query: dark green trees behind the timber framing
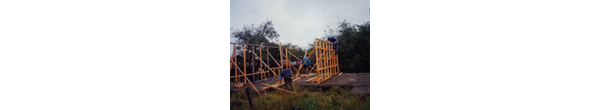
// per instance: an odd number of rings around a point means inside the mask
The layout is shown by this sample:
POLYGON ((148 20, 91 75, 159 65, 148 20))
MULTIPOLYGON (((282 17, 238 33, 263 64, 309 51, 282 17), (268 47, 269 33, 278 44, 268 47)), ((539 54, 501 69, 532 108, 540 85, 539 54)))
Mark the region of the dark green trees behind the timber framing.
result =
MULTIPOLYGON (((267 20, 266 22, 261 23, 259 26, 255 27, 253 24, 249 26, 244 26, 241 30, 231 29, 231 38, 234 38, 236 43, 244 43, 244 44, 256 44, 256 45, 265 45, 265 46, 279 46, 279 34, 273 27, 272 20, 267 20)), ((336 30, 329 29, 329 33, 325 34, 321 39, 327 39, 329 37, 335 37, 339 41, 338 48, 338 57, 340 63, 340 70, 342 72, 370 72, 370 22, 364 22, 363 24, 353 24, 348 22, 347 20, 343 20, 339 22, 339 25, 336 27, 336 30)), ((311 48, 306 50, 303 49, 290 49, 298 47, 297 45, 293 45, 291 43, 282 44, 282 48, 288 48, 294 56, 302 59, 304 58, 305 51, 312 51, 312 47, 314 46, 314 42, 309 43, 311 48)), ((243 54, 243 50, 238 45, 236 56, 238 56, 238 60, 240 60, 241 54, 243 54)), ((263 48, 262 60, 266 61, 270 59, 270 57, 266 53, 266 48, 263 48)), ((252 55, 250 51, 254 51, 256 54, 259 54, 258 47, 247 47, 246 61, 251 61, 251 57, 248 55, 252 55)), ((277 48, 269 48, 269 53, 275 57, 275 59, 280 59, 279 57, 279 49, 277 48)), ((285 50, 283 50, 285 51, 285 50)), ((315 62, 314 54, 310 57, 311 62, 315 62)), ((290 60, 295 61, 296 59, 290 56, 290 60)), ((258 62, 258 61, 255 61, 258 62)), ((270 66, 276 66, 276 61, 269 60, 270 66)), ((241 62, 238 62, 241 63, 241 62)), ((255 63, 257 64, 257 63, 255 63)), ((256 66, 256 65, 255 65, 256 66)))

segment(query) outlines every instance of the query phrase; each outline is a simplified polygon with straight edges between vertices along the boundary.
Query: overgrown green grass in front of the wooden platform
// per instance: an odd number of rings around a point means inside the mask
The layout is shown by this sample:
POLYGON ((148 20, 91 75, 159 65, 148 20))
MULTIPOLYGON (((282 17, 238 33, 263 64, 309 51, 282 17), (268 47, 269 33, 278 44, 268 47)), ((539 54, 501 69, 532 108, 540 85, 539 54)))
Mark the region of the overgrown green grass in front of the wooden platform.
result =
MULTIPOLYGON (((369 109, 370 97, 361 97, 350 93, 352 87, 333 86, 330 88, 295 86, 296 93, 273 90, 262 93, 259 97, 254 93, 254 107, 257 110, 365 110, 369 109)), ((250 109, 246 93, 237 92, 230 96, 230 109, 250 109)))

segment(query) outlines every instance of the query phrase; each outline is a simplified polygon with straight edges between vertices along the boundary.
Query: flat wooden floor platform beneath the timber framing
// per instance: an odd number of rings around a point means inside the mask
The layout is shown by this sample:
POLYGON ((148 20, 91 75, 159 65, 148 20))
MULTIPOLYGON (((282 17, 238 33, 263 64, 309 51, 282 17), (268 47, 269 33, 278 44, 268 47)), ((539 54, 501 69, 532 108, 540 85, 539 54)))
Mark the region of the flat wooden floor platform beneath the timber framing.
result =
MULTIPOLYGON (((334 77, 331 77, 331 79, 321 83, 321 84, 317 84, 316 82, 314 83, 310 83, 310 82, 304 82, 307 79, 313 78, 315 76, 309 76, 307 78, 302 78, 302 79, 298 79, 296 81, 294 81, 294 83, 296 85, 300 85, 300 86, 354 86, 352 89, 352 93, 355 94, 369 94, 370 91, 370 73, 357 73, 357 74, 351 74, 351 73, 343 73, 341 75, 336 75, 334 77)), ((254 84, 254 87, 256 87, 256 89, 258 89, 261 93, 265 92, 266 90, 262 89, 263 87, 265 87, 264 85, 262 85, 262 83, 266 83, 269 85, 273 85, 276 84, 277 82, 279 82, 279 78, 267 78, 267 79, 263 79, 263 80, 259 80, 259 81, 254 81, 252 82, 252 84, 254 84)), ((238 91, 243 91, 244 88, 246 87, 250 87, 250 84, 245 84, 243 87, 230 87, 229 91, 230 92, 238 92, 238 91)), ((256 91, 254 89, 252 89, 252 91, 256 91)))

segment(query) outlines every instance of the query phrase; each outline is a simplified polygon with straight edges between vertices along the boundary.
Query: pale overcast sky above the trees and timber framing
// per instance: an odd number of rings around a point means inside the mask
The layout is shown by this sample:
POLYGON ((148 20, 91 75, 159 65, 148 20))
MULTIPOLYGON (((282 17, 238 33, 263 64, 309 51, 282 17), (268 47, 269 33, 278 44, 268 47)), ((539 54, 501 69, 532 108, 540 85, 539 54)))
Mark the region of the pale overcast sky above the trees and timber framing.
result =
POLYGON ((369 0, 231 0, 230 27, 241 30, 273 20, 280 42, 307 47, 325 35, 327 26, 335 28, 343 19, 356 24, 370 21, 369 8, 369 0))

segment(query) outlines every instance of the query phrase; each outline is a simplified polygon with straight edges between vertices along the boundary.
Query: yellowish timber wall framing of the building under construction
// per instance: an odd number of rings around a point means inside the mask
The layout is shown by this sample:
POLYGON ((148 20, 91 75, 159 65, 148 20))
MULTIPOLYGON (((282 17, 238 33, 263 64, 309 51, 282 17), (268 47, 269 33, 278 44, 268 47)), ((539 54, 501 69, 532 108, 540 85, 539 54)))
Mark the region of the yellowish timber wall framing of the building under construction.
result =
MULTIPOLYGON (((244 63, 243 68, 244 68, 244 70, 241 70, 241 69, 239 69, 238 65, 235 64, 235 63, 238 62, 237 61, 237 51, 236 51, 236 47, 237 47, 238 43, 230 43, 230 44, 233 44, 233 46, 234 46, 234 48, 233 48, 234 53, 231 56, 232 58, 230 58, 231 62, 230 62, 229 68, 230 69, 233 68, 233 67, 238 68, 238 69, 235 69, 235 76, 230 76, 229 77, 229 78, 236 78, 235 83, 230 83, 230 84, 242 83, 242 81, 239 81, 238 79, 240 77, 247 77, 248 75, 257 75, 257 74, 260 74, 260 79, 261 80, 263 78, 267 78, 267 76, 265 74, 268 74, 268 73, 273 73, 273 76, 277 76, 278 77, 278 76, 281 75, 281 70, 282 70, 283 66, 286 66, 287 68, 289 68, 292 71, 295 69, 296 71, 293 72, 292 75, 295 78, 299 78, 298 75, 299 75, 300 71, 302 70, 302 67, 304 66, 304 64, 300 64, 299 68, 291 66, 289 64, 290 63, 290 55, 293 58, 296 58, 296 59, 298 59, 300 61, 301 61, 301 59, 298 58, 298 57, 296 57, 294 54, 291 54, 290 51, 288 51, 288 49, 281 48, 281 43, 279 43, 279 47, 275 47, 275 46, 262 46, 262 45, 255 45, 255 44, 240 44, 240 45, 242 45, 241 47, 244 50, 244 53, 243 53, 243 60, 244 60, 243 61, 243 63, 244 63), (260 61, 259 62, 259 65, 260 65, 259 68, 260 69, 258 71, 255 70, 254 73, 247 73, 247 71, 246 71, 247 70, 246 69, 246 52, 247 52, 246 48, 247 48, 247 46, 250 46, 250 47, 259 47, 259 53, 260 53, 260 55, 257 55, 253 51, 248 52, 248 53, 251 53, 250 56, 252 58, 252 63, 253 64, 254 64, 254 59, 256 59, 256 57, 259 57, 258 60, 260 61), (266 49, 267 56, 265 56, 265 57, 267 57, 266 59, 267 60, 270 60, 270 59, 275 60, 276 61, 275 64, 277 64, 277 67, 269 67, 269 64, 268 64, 269 61, 267 61, 267 63, 265 63, 262 60, 262 58, 263 58, 263 56, 262 56, 262 53, 263 53, 262 52, 262 48, 263 47, 267 48, 266 49), (273 57, 273 55, 271 55, 271 53, 269 52, 269 48, 278 48, 278 50, 279 50, 279 58, 280 59, 275 59, 275 57, 273 57), (279 61, 277 61, 277 60, 279 60, 279 61), (267 66, 268 70, 264 70, 263 69, 263 67, 262 67, 263 64, 267 66), (241 73, 241 74, 238 75, 238 73, 241 73)), ((308 51, 305 52, 304 55, 306 56, 307 53, 308 53, 308 51)), ((329 78, 333 77, 334 75, 337 75, 337 74, 340 73, 340 71, 339 71, 339 64, 338 64, 338 56, 335 55, 335 50, 333 50, 333 43, 332 42, 329 42, 329 41, 326 41, 326 40, 322 40, 322 39, 319 39, 319 38, 315 38, 315 46, 314 46, 313 50, 310 52, 310 54, 308 54, 308 56, 311 56, 313 53, 315 53, 315 55, 316 55, 316 63, 314 64, 314 66, 308 72, 310 73, 311 71, 315 70, 316 71, 316 74, 315 74, 316 77, 308 79, 308 80, 306 80, 306 82, 317 82, 317 83, 320 84, 320 83, 328 80, 329 78)), ((254 66, 252 66, 252 67, 254 67, 254 66)), ((252 68, 252 69, 254 69, 254 68, 252 68)), ((304 76, 306 77, 307 75, 304 75, 304 76)), ((250 80, 248 80, 247 78, 245 78, 245 79, 246 80, 242 79, 244 84, 246 84, 246 83, 252 84, 250 82, 250 80)))

